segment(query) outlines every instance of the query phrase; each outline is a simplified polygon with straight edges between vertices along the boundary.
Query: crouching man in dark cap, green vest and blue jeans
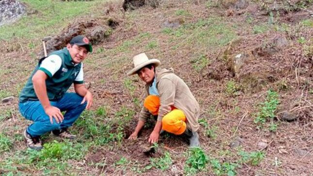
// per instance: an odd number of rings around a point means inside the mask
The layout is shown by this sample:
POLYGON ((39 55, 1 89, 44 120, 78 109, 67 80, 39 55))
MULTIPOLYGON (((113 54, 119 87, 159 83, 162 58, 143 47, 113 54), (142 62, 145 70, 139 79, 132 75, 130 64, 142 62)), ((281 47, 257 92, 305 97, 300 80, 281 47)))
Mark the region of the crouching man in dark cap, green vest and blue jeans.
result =
POLYGON ((29 148, 42 149, 40 136, 50 131, 61 138, 75 139, 67 128, 93 102, 83 85, 82 61, 88 52, 92 52, 88 38, 73 37, 65 48, 42 58, 27 80, 18 105, 21 114, 33 121, 24 131, 29 148), (67 93, 72 83, 75 93, 67 93))

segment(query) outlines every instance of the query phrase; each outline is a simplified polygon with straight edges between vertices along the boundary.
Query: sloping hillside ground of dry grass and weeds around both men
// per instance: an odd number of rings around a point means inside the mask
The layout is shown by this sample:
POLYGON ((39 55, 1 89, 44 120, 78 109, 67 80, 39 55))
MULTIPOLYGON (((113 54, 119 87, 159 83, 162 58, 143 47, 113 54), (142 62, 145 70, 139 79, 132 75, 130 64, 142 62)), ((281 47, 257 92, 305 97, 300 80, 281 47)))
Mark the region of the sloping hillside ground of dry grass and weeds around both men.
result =
MULTIPOLYGON (((246 10, 230 16, 226 16, 231 14, 229 9, 213 0, 171 0, 156 9, 144 7, 126 13, 121 11, 120 0, 23 1, 29 11, 36 13, 0 27, 0 38, 6 41, 6 50, 2 49, 0 55, 0 99, 15 97, 13 102, 0 105, 0 174, 313 174, 312 109, 305 112, 307 108, 303 108, 313 103, 312 18, 290 12, 297 18, 288 21, 288 14, 262 13, 266 8, 257 1, 247 9, 260 5, 260 14, 246 10), (104 16, 107 9, 110 13, 104 16), (41 38, 58 34, 76 20, 95 18, 101 22, 105 17, 115 18, 119 26, 106 41, 94 46, 94 52, 84 62, 85 82, 93 92, 95 104, 70 129, 78 139, 61 141, 47 134, 43 136, 42 151, 27 149, 21 133, 32 122, 18 112, 17 97, 37 63, 41 38), (167 20, 180 25, 166 27, 167 20), (266 61, 271 67, 263 69, 276 80, 265 82, 257 92, 246 93, 240 79, 223 76, 228 71, 228 55, 236 55, 242 48, 248 52, 249 47, 265 46, 274 34, 286 35, 290 45, 281 54, 256 56, 252 62, 255 66, 244 68, 250 73, 259 69, 259 62, 266 61), (237 40, 247 42, 231 48, 230 43, 237 40), (227 48, 233 53, 224 52, 227 48), (300 54, 286 55, 289 50, 300 54), (165 134, 155 144, 156 152, 146 156, 143 152, 149 148, 152 120, 139 139, 125 140, 136 124, 143 98, 143 83, 136 76, 127 77, 126 72, 132 68, 132 56, 143 51, 160 59, 162 67, 173 67, 198 99, 201 148, 189 149, 183 137, 165 134), (285 58, 297 56, 302 56, 295 60, 297 64, 288 67, 289 63, 285 63, 288 69, 280 64, 285 58), (220 63, 224 64, 219 73, 221 79, 212 79, 210 73, 220 63), (294 103, 298 105, 291 106, 294 103), (279 112, 294 108, 297 121, 280 120, 279 112), (241 145, 231 148, 238 137, 241 145), (260 142, 265 145, 260 147, 260 142), (305 153, 300 155, 298 150, 305 153)), ((312 5, 303 8, 312 10, 312 5)))

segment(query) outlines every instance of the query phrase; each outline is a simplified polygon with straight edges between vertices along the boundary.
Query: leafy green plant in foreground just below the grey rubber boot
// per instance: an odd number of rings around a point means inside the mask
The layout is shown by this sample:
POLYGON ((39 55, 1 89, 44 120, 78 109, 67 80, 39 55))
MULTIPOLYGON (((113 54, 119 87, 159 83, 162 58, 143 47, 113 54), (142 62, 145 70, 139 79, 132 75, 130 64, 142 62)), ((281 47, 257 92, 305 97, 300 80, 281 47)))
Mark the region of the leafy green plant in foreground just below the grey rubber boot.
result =
MULTIPOLYGON (((202 171, 209 161, 209 157, 202 148, 192 147, 189 150, 189 157, 186 160, 185 168, 193 168, 193 170, 202 171)), ((190 171, 190 169, 187 169, 190 171)))

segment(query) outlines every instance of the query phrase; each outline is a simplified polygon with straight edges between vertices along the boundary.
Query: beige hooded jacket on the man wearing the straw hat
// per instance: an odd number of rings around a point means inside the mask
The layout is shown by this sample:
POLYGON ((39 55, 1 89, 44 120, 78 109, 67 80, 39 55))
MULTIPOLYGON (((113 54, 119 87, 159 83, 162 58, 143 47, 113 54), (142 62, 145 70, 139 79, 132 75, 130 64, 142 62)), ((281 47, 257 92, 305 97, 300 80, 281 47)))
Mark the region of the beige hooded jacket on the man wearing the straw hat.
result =
MULTIPOLYGON (((173 68, 156 71, 156 86, 160 94, 160 108, 158 121, 171 111, 171 106, 183 111, 187 118, 187 128, 197 131, 199 128, 198 117, 200 114, 199 104, 190 92, 187 84, 174 74, 173 68)), ((146 96, 149 95, 149 84, 146 84, 146 96)), ((143 107, 139 120, 146 121, 150 112, 143 107)))

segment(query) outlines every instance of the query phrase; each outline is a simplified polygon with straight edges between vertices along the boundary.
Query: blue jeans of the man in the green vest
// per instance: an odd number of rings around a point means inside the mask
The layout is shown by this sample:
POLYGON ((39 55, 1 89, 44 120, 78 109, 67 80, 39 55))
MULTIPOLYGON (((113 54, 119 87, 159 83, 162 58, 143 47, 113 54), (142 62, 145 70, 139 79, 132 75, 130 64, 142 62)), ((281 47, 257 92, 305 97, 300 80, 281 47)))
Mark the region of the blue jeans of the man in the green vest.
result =
POLYGON ((50 101, 51 106, 55 106, 61 110, 66 111, 64 120, 57 123, 54 118, 51 124, 49 116, 46 114, 40 101, 26 101, 19 103, 19 112, 28 120, 34 123, 27 128, 28 134, 32 137, 37 137, 50 132, 55 129, 68 128, 73 125, 83 110, 86 108, 87 102, 81 104, 83 97, 76 93, 66 93, 58 101, 50 101))

